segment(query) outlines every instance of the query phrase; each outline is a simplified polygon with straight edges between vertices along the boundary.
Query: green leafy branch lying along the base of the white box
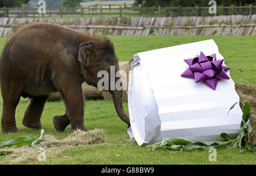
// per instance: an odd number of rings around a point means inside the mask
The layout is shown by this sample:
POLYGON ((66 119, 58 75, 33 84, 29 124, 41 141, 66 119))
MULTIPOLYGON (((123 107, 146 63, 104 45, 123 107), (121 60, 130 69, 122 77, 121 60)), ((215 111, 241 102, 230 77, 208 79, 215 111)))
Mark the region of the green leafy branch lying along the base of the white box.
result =
MULTIPOLYGON (((241 151, 247 152, 256 152, 256 147, 251 144, 250 133, 253 131, 253 128, 250 124, 251 113, 255 113, 256 111, 251 110, 250 104, 246 100, 241 100, 240 102, 244 103, 242 108, 242 121, 240 124, 241 132, 233 139, 227 133, 221 133, 216 141, 195 141, 195 140, 183 140, 175 137, 171 137, 166 140, 164 143, 159 142, 152 146, 152 150, 161 150, 168 152, 169 150, 180 150, 180 152, 184 150, 191 149, 209 149, 209 148, 241 148, 241 151), (223 139, 223 140, 220 140, 223 139)), ((236 106, 236 102, 230 107, 229 111, 236 106)))

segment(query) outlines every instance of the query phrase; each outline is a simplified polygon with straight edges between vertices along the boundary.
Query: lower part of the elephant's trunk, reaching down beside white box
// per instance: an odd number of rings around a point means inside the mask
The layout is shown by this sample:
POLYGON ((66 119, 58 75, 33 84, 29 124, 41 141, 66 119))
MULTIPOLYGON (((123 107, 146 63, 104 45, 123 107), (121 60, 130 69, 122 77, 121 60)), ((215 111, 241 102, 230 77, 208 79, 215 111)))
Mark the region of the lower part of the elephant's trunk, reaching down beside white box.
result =
POLYGON ((128 116, 125 114, 125 111, 123 111, 122 90, 114 90, 114 91, 112 91, 112 95, 113 95, 115 111, 117 111, 119 118, 122 119, 128 125, 128 128, 129 128, 130 120, 129 120, 128 116))

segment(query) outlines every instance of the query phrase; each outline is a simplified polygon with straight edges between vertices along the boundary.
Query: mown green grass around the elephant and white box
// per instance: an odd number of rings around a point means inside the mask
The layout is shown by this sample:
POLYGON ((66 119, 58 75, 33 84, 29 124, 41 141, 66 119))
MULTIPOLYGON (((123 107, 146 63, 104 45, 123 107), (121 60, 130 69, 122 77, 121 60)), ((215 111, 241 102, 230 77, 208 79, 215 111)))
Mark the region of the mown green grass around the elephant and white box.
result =
MULTIPOLYGON (((128 61, 133 54, 170 47, 193 41, 214 39, 220 53, 230 66, 230 74, 234 81, 255 85, 255 44, 256 36, 110 36, 114 42, 115 52, 119 61, 128 61), (245 70, 240 72, 239 69, 245 70)), ((0 52, 6 39, 0 38, 0 52)), ((156 58, 157 59, 157 58, 156 58)), ((21 99, 16 109, 18 133, 4 134, 0 138, 39 137, 40 131, 22 125, 22 118, 27 107, 27 100, 21 99)), ((2 98, 0 99, 2 108, 2 98)), ((127 102, 123 103, 128 114, 127 102)), ((52 117, 64 114, 63 102, 47 102, 42 115, 42 125, 46 134, 53 134, 57 139, 67 137, 70 125, 64 132, 57 132, 52 124, 52 117)), ((1 115, 0 111, 0 115, 1 115)), ((252 153, 240 153, 239 149, 218 149, 217 161, 209 162, 208 150, 192 150, 189 152, 142 152, 151 150, 151 146, 138 146, 129 141, 126 124, 117 116, 112 101, 86 100, 85 125, 89 129, 105 130, 106 143, 80 146, 65 150, 55 158, 47 158, 46 162, 37 164, 255 164, 256 156, 252 153)), ((5 160, 0 157, 0 164, 5 160)))

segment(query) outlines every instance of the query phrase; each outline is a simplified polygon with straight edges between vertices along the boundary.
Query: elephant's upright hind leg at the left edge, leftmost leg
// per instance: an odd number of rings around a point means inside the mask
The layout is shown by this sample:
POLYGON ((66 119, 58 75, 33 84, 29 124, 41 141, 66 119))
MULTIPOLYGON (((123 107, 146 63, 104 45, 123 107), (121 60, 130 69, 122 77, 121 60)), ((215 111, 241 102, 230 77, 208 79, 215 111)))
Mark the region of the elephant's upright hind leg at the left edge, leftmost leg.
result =
POLYGON ((3 109, 2 109, 2 132, 18 132, 18 128, 16 127, 15 121, 15 111, 16 106, 19 103, 21 90, 16 87, 16 89, 12 89, 12 85, 6 85, 1 82, 1 92, 3 98, 3 109))

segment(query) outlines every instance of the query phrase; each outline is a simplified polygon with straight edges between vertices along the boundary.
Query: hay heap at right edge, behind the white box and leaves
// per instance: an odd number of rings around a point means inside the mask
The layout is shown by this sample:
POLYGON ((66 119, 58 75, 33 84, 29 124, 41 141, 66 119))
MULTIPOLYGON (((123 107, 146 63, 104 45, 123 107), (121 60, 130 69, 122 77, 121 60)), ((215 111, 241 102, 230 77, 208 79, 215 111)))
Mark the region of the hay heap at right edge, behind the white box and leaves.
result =
MULTIPOLYGON (((248 85, 246 83, 236 83, 236 91, 240 100, 247 100, 247 102, 250 103, 251 110, 256 110, 256 86, 248 85)), ((241 108, 242 106, 242 103, 240 103, 241 108)), ((256 114, 251 115, 250 123, 251 127, 253 127, 251 141, 256 145, 256 114)))

